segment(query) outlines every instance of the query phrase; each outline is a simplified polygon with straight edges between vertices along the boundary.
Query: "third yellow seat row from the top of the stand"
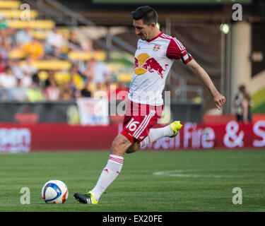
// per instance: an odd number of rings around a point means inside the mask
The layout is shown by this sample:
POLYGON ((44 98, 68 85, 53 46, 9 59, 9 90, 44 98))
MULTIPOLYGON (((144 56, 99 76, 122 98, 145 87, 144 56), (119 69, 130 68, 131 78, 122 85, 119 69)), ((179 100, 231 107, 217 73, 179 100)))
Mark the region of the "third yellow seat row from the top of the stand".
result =
POLYGON ((52 20, 6 20, 6 23, 8 27, 15 29, 52 29, 55 25, 52 20))

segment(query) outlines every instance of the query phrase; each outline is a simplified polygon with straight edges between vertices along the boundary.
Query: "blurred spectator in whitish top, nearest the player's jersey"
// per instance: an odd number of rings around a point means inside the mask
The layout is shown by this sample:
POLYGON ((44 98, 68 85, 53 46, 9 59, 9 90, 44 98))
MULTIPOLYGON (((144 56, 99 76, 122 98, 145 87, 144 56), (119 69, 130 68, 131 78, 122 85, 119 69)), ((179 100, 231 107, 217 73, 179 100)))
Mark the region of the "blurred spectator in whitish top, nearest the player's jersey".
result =
POLYGON ((92 58, 86 65, 81 67, 81 73, 86 78, 90 78, 93 83, 103 84, 110 81, 112 71, 102 61, 97 61, 95 58, 92 58))

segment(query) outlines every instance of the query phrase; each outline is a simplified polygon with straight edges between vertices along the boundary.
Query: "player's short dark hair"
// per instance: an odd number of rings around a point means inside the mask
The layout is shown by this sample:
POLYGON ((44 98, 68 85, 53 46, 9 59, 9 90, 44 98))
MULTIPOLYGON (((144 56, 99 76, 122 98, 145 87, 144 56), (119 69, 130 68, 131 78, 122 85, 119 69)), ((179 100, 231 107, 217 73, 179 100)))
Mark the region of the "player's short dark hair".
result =
POLYGON ((158 22, 158 13, 150 6, 140 6, 136 11, 131 12, 134 20, 143 20, 144 24, 150 25, 151 23, 158 22))

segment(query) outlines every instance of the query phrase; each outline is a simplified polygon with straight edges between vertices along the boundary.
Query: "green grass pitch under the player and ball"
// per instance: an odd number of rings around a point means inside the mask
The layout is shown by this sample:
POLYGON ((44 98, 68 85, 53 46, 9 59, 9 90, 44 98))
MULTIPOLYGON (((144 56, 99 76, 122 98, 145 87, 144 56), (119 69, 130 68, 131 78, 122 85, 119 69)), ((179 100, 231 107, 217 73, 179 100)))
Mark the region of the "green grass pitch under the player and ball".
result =
POLYGON ((119 177, 95 206, 78 203, 75 192, 93 188, 108 152, 0 154, 0 211, 264 211, 265 150, 139 151, 124 155, 119 177), (69 189, 63 205, 42 201, 49 179, 69 189), (20 189, 30 189, 30 205, 20 189), (232 189, 242 189, 233 204, 232 189))

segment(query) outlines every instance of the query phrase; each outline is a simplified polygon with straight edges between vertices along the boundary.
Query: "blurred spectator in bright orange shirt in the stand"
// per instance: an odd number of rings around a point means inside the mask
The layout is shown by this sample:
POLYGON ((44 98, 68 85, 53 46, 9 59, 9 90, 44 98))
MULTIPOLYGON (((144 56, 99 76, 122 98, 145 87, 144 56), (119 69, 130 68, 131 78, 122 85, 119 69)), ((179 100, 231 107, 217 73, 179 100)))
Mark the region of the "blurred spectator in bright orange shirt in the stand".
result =
POLYGON ((44 47, 35 37, 32 42, 23 45, 23 50, 28 57, 35 60, 42 59, 45 54, 44 47))

